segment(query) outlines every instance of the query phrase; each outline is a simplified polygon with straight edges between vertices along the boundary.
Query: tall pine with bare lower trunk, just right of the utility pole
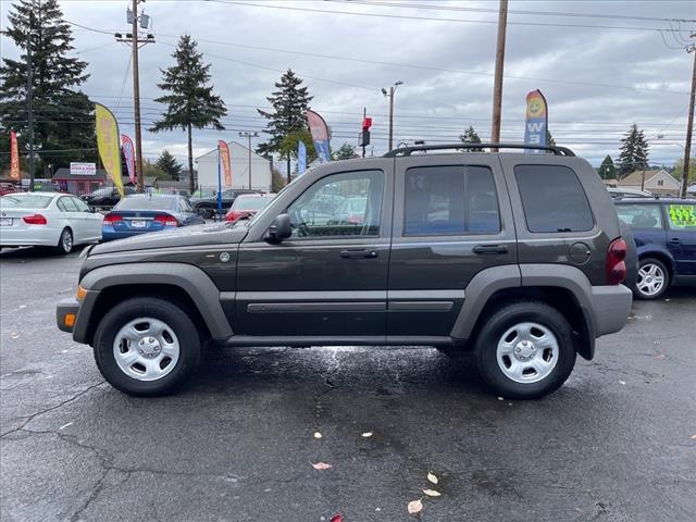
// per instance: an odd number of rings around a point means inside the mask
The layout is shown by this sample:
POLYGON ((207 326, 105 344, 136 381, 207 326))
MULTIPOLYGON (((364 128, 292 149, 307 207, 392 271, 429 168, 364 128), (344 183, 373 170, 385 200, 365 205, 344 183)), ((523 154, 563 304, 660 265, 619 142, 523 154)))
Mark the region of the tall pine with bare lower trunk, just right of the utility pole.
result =
POLYGON ((196 191, 194 179, 192 129, 209 125, 224 130, 220 119, 227 114, 222 98, 213 92, 210 82, 210 64, 203 63, 203 54, 198 52, 198 44, 190 35, 182 35, 172 54, 176 64, 162 71, 162 83, 158 87, 167 92, 154 101, 167 105, 162 120, 156 122, 150 132, 186 130, 188 140, 188 171, 191 173, 189 190, 196 191))

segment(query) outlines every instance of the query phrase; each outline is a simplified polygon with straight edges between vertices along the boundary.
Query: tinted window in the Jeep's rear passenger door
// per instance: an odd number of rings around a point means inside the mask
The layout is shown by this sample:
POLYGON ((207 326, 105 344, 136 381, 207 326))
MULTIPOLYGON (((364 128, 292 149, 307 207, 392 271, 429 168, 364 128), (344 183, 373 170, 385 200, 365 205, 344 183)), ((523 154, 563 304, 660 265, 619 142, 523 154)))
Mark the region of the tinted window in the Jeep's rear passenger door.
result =
POLYGON ((405 236, 500 232, 498 198, 487 166, 412 167, 405 183, 405 236))

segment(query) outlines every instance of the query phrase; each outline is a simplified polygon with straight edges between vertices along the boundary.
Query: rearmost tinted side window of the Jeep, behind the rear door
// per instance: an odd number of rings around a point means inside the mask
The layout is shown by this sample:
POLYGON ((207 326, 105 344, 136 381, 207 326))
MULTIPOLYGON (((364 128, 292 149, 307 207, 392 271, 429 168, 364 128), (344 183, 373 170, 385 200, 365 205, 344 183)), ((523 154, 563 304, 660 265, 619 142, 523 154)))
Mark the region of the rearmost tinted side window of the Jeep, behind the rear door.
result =
POLYGON ((530 232, 587 232, 594 226, 587 196, 577 175, 562 165, 517 165, 530 232))

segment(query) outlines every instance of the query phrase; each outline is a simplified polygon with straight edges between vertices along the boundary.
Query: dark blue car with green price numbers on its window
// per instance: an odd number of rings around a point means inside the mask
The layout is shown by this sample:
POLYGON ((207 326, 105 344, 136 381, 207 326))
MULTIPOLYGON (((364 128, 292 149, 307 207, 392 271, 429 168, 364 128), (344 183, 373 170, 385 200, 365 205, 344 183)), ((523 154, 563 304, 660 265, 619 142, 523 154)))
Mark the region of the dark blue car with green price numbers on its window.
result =
POLYGON ((637 298, 657 299, 671 285, 696 282, 696 199, 623 199, 616 207, 637 247, 637 298))

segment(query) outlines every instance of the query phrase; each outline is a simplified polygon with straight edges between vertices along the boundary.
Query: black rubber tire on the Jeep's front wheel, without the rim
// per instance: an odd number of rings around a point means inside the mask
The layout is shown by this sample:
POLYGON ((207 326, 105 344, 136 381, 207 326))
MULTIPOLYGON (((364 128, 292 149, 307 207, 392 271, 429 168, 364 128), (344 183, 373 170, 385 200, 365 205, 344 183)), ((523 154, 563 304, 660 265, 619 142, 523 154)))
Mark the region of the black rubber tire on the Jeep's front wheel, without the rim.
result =
POLYGON ((179 304, 151 297, 128 299, 112 308, 101 320, 95 333, 95 360, 103 377, 116 389, 136 397, 172 394, 188 381, 201 357, 201 340, 190 313, 179 304), (179 343, 178 360, 161 378, 140 381, 122 370, 114 355, 119 331, 130 321, 152 318, 172 330, 179 343))

